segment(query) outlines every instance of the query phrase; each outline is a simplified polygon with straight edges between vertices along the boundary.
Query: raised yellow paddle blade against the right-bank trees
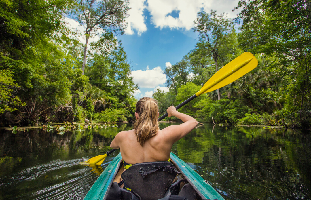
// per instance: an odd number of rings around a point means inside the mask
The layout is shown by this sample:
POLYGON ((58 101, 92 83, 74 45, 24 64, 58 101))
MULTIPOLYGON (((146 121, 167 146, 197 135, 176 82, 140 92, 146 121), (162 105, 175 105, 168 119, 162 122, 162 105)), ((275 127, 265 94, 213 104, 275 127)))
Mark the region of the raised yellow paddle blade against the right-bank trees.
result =
POLYGON ((252 53, 242 53, 218 70, 195 95, 198 97, 203 93, 222 88, 255 69, 257 65, 258 61, 252 53))

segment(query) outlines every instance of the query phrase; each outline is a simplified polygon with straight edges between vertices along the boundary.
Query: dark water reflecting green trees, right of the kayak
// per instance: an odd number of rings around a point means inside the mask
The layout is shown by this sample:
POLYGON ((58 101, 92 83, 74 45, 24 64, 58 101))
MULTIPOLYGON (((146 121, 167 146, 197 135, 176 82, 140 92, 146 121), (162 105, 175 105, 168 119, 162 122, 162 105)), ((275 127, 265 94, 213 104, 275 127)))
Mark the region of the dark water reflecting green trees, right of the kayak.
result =
POLYGON ((310 136, 251 127, 202 126, 174 145, 174 152, 225 198, 310 198, 310 136))

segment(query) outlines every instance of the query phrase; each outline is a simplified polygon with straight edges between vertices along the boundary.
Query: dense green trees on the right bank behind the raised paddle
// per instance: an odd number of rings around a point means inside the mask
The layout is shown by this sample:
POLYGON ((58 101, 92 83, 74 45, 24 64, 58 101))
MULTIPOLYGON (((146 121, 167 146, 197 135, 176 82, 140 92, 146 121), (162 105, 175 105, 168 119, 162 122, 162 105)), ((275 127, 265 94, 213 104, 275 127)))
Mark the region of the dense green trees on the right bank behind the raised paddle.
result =
POLYGON ((258 59, 256 69, 221 88, 220 96, 216 91, 201 95, 182 110, 211 123, 213 117, 215 123, 311 127, 310 6, 298 0, 241 0, 233 21, 215 11, 200 12, 193 29, 199 42, 180 62, 185 67, 177 63, 165 70, 170 92, 158 91, 154 98, 160 107, 167 106, 168 99, 177 106, 217 67, 248 51, 258 59))

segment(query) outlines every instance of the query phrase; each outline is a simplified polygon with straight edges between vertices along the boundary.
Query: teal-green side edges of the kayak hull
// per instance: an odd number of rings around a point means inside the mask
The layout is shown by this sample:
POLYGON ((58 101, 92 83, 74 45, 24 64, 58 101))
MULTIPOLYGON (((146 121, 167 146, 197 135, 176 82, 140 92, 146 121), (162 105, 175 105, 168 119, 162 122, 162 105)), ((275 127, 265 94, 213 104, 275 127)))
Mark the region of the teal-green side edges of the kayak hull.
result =
MULTIPOLYGON (((225 200, 206 180, 198 175, 197 172, 195 172, 190 166, 187 165, 187 163, 182 161, 174 153, 171 153, 171 160, 202 199, 225 200)), ((119 166, 121 165, 121 161, 122 157, 121 153, 119 153, 95 181, 89 192, 86 194, 84 200, 105 199, 107 191, 118 172, 119 166)))

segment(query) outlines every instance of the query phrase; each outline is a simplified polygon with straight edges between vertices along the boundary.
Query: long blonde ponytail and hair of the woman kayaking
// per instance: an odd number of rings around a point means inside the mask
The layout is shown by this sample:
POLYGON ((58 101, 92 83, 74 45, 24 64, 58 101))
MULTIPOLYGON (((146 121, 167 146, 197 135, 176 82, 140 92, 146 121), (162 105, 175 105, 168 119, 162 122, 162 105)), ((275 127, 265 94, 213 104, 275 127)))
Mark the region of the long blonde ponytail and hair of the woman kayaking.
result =
POLYGON ((160 130, 158 111, 158 102, 153 98, 143 97, 136 103, 139 118, 134 123, 134 133, 141 146, 160 130))

